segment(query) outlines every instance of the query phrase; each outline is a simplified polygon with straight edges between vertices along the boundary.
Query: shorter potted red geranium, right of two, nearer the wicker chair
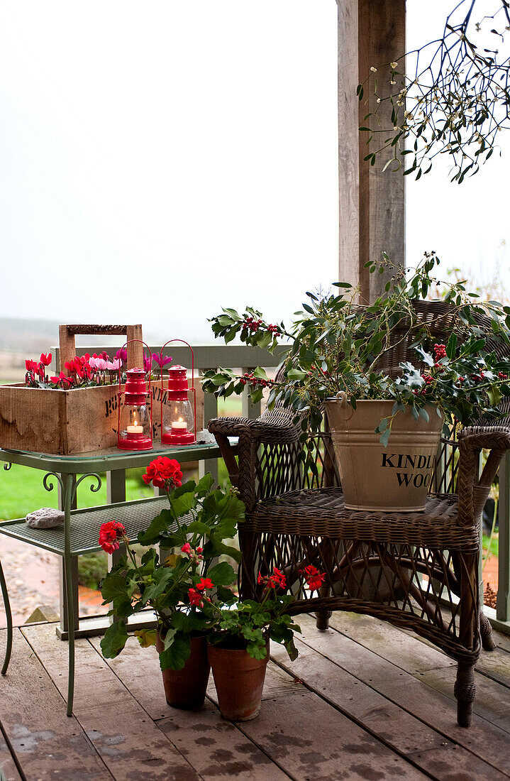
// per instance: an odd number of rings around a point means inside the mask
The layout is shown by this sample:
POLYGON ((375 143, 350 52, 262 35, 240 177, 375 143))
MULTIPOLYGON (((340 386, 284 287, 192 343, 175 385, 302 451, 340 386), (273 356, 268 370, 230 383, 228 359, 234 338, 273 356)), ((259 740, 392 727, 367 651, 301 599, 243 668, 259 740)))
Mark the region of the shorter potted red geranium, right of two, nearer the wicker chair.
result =
MULTIPOLYGON (((324 583, 325 573, 313 565, 300 574, 311 590, 324 583)), ((276 567, 267 576, 259 572, 258 583, 260 601, 239 601, 236 594, 223 589, 222 601, 204 607, 213 627, 208 637, 209 661, 218 704, 223 718, 235 722, 255 719, 260 712, 269 640, 284 645, 291 660, 298 655, 294 633, 301 629, 288 614, 295 597, 282 593, 287 587, 284 573, 276 567)))

